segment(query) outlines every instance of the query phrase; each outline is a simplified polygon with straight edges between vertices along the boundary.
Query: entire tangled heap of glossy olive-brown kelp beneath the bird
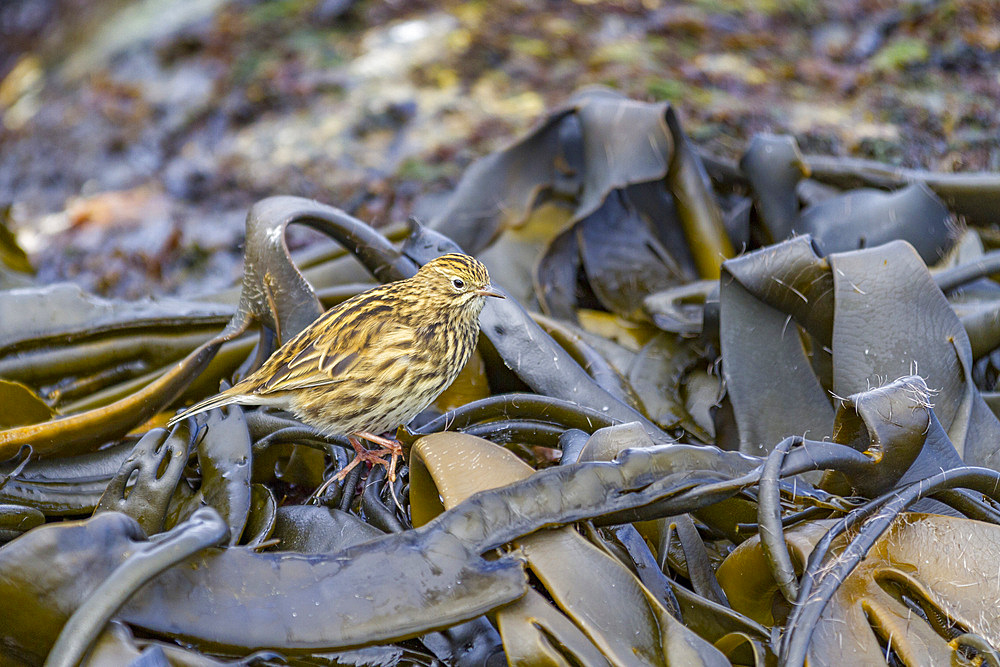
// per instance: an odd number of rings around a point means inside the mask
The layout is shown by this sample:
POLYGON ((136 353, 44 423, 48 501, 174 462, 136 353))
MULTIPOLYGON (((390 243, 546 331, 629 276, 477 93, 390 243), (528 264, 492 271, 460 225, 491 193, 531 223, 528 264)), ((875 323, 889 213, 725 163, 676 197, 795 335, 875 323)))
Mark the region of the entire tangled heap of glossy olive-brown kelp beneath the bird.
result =
POLYGON ((998 201, 588 90, 427 226, 258 202, 197 299, 40 285, 0 234, 0 661, 1000 664, 998 201), (161 428, 457 250, 509 298, 394 482, 325 486, 350 444, 280 412, 161 428))

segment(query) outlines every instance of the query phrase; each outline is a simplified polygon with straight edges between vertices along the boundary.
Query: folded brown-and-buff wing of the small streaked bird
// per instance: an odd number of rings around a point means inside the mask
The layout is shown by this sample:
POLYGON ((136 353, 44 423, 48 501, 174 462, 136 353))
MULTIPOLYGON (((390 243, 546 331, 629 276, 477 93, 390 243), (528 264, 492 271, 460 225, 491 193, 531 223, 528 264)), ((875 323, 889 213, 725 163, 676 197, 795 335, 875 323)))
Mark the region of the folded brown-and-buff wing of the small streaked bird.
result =
MULTIPOLYGON (((330 313, 333 315, 333 313, 330 313)), ((289 341, 287 361, 274 367, 265 364, 268 379, 256 392, 309 389, 336 384, 351 377, 363 365, 378 365, 382 352, 394 356, 393 348, 412 345, 416 331, 406 324, 385 317, 359 317, 356 322, 345 318, 320 318, 312 326, 289 341), (295 343, 298 343, 295 349, 295 343)))

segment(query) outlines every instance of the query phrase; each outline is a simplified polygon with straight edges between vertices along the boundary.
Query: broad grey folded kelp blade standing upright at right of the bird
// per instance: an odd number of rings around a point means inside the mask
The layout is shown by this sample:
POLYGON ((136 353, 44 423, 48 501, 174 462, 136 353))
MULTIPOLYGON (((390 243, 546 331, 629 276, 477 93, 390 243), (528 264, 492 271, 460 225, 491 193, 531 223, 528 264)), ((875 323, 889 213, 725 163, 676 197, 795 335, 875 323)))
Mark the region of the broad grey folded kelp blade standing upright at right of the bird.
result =
POLYGON ((1000 422, 972 382, 969 337, 911 246, 823 259, 798 237, 725 270, 720 338, 742 451, 766 450, 792 424, 828 435, 830 393, 919 371, 962 460, 1000 469, 1000 422))

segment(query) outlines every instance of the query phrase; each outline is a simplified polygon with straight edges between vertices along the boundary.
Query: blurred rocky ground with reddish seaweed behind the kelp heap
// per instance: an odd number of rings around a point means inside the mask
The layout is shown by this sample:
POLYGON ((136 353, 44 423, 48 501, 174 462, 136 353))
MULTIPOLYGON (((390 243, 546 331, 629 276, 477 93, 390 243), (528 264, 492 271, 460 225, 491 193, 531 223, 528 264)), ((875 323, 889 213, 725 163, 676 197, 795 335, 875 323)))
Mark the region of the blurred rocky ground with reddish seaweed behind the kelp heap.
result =
POLYGON ((43 283, 217 289, 257 199, 429 217, 589 84, 669 100, 720 156, 772 131, 1000 169, 994 0, 5 0, 0 222, 43 283))

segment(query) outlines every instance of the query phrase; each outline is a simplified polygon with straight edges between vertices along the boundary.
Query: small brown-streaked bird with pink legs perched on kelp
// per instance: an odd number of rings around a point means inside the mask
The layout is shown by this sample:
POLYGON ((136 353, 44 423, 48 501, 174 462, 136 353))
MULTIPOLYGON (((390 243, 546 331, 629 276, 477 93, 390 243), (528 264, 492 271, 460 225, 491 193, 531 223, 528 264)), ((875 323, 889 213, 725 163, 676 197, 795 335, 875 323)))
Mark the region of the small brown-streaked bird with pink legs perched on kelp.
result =
POLYGON ((438 257, 412 278, 326 311, 259 369, 168 425, 234 403, 272 406, 323 435, 347 436, 354 460, 328 483, 361 461, 386 466, 394 479, 402 448, 382 434, 409 422, 454 381, 476 347, 479 313, 490 296, 503 298, 479 260, 438 257), (380 449, 366 450, 361 440, 380 449))

